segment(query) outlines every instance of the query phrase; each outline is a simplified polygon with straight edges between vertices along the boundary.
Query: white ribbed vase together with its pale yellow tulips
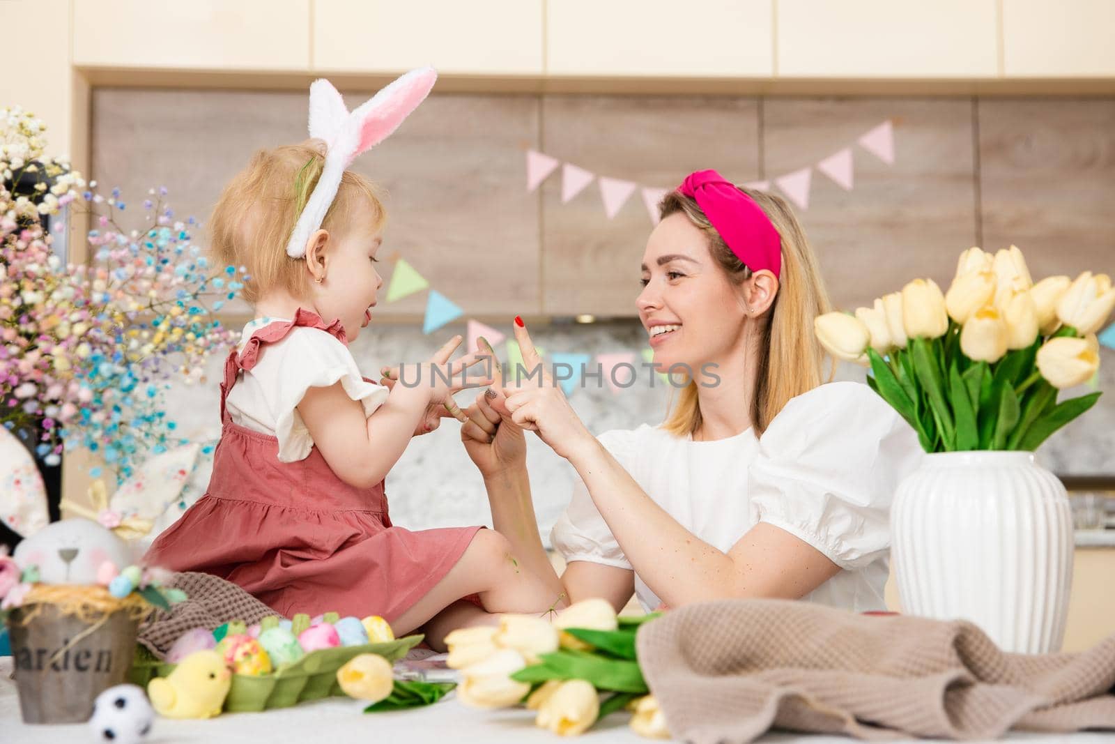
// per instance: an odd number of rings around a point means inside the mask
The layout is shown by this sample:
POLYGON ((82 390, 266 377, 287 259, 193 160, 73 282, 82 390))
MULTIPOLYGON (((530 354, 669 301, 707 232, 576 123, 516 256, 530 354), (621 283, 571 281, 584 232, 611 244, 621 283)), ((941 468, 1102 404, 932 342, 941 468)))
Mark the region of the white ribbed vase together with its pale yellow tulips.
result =
POLYGON ((1011 245, 964 251, 943 294, 915 279, 854 316, 816 318, 821 344, 870 367, 929 453, 891 510, 903 611, 971 620, 1005 650, 1060 648, 1073 525, 1034 451, 1099 397, 1057 394, 1096 374, 1113 307, 1106 274, 1035 284, 1011 245))

